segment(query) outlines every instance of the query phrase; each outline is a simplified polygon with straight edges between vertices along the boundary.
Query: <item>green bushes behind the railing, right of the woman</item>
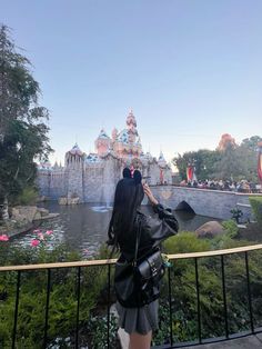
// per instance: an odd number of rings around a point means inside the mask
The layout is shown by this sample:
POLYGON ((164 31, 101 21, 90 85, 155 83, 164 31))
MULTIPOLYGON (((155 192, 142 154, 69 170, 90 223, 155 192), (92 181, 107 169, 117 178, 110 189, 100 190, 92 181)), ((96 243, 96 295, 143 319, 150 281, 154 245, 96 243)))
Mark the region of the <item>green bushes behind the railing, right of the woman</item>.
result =
MULTIPOLYGON (((211 240, 198 239, 195 233, 180 232, 164 242, 169 253, 196 252, 212 249, 233 248, 249 245, 246 241, 235 241, 236 225, 230 220, 223 222, 224 233, 211 240)), ((252 301, 256 325, 262 321, 262 270, 260 268, 261 251, 251 252, 250 272, 252 275, 252 301)), ((225 287, 230 332, 249 329, 249 302, 246 292, 246 275, 242 255, 224 257, 225 287)), ((199 287, 202 338, 224 336, 224 309, 221 279, 220 257, 199 258, 199 287)), ((178 259, 172 261, 171 295, 172 295, 172 329, 173 340, 189 341, 198 338, 196 288, 194 260, 178 259)), ((169 295, 168 277, 164 277, 160 300, 160 330, 154 336, 155 345, 169 342, 169 295), (162 317, 161 315, 164 313, 162 317)))

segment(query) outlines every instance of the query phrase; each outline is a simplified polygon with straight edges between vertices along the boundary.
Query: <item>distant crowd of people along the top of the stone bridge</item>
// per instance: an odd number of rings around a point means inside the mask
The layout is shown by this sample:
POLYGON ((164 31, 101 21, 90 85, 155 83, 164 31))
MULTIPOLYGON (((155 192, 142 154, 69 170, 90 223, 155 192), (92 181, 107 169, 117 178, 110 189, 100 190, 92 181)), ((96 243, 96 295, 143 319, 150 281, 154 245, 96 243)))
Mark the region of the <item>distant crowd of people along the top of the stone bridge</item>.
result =
POLYGON ((212 190, 226 190, 235 192, 262 192, 262 186, 248 181, 231 181, 231 180, 193 180, 193 181, 181 181, 181 187, 199 188, 199 189, 212 189, 212 190))

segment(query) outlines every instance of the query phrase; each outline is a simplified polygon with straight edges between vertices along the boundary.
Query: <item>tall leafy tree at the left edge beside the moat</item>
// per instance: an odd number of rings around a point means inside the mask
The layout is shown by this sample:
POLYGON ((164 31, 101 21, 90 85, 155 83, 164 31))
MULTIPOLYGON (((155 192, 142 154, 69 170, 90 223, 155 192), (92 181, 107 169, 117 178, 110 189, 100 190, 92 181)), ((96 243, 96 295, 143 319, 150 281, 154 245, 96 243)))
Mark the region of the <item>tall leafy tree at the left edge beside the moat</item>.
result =
POLYGON ((32 186, 36 160, 47 159, 49 112, 38 104, 39 83, 30 61, 17 52, 10 30, 0 27, 0 219, 8 202, 32 186))

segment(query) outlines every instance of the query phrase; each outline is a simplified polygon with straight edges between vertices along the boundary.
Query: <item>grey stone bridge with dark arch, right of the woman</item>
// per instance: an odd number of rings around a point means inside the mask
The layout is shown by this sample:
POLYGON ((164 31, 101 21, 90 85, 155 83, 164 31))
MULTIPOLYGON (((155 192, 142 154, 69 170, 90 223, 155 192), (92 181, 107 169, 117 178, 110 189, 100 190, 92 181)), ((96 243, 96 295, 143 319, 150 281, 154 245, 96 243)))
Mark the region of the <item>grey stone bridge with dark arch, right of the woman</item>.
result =
POLYGON ((173 210, 192 209, 196 215, 218 219, 230 219, 232 217, 230 210, 235 208, 242 210, 243 219, 252 219, 249 197, 262 196, 175 186, 151 186, 150 188, 161 203, 173 210))

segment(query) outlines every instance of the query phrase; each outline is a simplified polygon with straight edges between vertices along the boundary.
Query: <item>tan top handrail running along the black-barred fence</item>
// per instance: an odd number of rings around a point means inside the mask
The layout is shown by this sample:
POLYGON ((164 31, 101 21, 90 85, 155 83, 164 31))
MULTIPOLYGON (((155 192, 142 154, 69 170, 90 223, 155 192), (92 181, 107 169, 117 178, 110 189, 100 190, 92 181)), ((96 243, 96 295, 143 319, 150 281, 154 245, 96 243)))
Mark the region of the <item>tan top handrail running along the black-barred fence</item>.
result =
MULTIPOLYGON (((225 249, 225 250, 213 250, 213 251, 205 251, 205 252, 168 255, 168 257, 170 260, 203 258, 203 257, 213 257, 213 256, 221 256, 221 255, 241 253, 241 252, 254 251, 254 250, 260 250, 260 249, 262 249, 261 243, 260 245, 244 246, 244 247, 236 247, 236 248, 225 249)), ((99 260, 85 260, 85 261, 73 261, 73 262, 60 262, 60 263, 7 266, 7 267, 0 267, 0 272, 1 271, 17 271, 17 270, 97 267, 97 266, 114 265, 115 261, 117 261, 117 259, 99 259, 99 260)))

